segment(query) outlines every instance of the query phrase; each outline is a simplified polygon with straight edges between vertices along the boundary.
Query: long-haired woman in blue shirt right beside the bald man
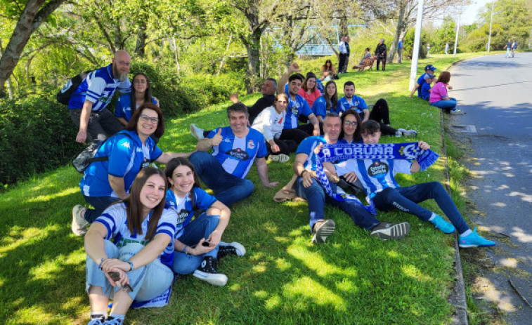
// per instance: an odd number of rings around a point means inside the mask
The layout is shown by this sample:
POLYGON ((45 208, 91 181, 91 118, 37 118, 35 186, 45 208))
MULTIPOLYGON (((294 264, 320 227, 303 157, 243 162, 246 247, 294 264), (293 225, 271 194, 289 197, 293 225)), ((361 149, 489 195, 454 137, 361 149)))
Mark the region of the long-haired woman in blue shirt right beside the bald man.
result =
POLYGON ((131 93, 126 93, 118 99, 117 107, 115 108, 115 117, 126 126, 131 115, 135 110, 145 102, 152 102, 159 106, 159 100, 152 97, 152 88, 150 87, 150 79, 143 73, 135 74, 133 77, 133 88, 131 93), (132 105, 134 103, 134 105, 132 105))

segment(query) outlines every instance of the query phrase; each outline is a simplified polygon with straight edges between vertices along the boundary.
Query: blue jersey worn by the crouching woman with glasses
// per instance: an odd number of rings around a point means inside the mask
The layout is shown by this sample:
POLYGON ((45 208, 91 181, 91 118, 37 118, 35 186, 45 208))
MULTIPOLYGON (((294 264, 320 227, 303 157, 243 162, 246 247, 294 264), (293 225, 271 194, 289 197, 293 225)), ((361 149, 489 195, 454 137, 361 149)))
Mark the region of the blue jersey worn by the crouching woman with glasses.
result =
POLYGON ((124 190, 129 192, 136 175, 162 151, 152 138, 143 145, 135 131, 120 131, 103 142, 94 157, 109 157, 108 161, 94 161, 86 168, 79 187, 86 197, 118 197, 109 184, 109 175, 124 178, 124 190), (128 133, 131 138, 121 133, 128 133))

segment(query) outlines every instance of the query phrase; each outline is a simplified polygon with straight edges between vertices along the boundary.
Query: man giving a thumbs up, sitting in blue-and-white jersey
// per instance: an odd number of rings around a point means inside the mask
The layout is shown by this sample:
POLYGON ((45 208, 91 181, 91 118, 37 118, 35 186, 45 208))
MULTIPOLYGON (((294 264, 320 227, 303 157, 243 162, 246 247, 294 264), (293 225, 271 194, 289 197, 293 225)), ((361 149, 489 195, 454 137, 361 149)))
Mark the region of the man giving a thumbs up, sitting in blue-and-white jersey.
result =
POLYGON ((227 107, 229 126, 215 128, 207 138, 197 141, 196 150, 190 155, 190 162, 200 179, 214 191, 216 199, 226 206, 252 194, 254 186, 245 179, 253 161, 257 161, 259 178, 265 187, 270 182, 266 164, 266 140, 259 131, 247 126, 247 107, 237 102, 227 107), (207 151, 212 149, 212 154, 207 151))

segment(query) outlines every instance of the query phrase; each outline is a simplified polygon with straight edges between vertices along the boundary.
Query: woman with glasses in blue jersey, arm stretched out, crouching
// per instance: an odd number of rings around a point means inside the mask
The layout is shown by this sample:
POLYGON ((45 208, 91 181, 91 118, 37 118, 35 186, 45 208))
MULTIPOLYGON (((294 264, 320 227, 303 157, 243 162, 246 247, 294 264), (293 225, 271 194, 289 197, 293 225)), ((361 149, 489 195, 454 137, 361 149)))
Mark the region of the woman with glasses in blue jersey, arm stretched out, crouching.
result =
POLYGON ((72 209, 72 232, 82 235, 110 204, 129 197, 129 188, 136 175, 153 161, 167 164, 188 153, 162 152, 151 135, 160 138, 164 133, 162 111, 157 105, 145 102, 133 113, 129 123, 98 149, 94 161, 84 171, 79 182, 85 201, 94 208, 81 205, 72 209))

